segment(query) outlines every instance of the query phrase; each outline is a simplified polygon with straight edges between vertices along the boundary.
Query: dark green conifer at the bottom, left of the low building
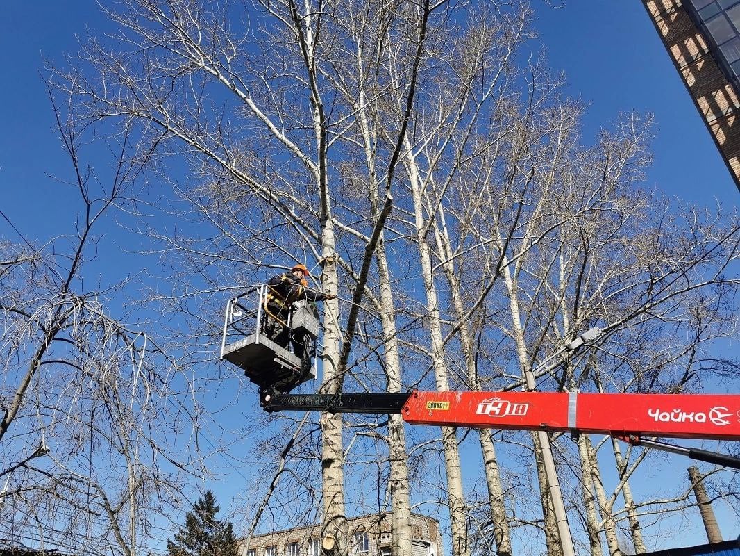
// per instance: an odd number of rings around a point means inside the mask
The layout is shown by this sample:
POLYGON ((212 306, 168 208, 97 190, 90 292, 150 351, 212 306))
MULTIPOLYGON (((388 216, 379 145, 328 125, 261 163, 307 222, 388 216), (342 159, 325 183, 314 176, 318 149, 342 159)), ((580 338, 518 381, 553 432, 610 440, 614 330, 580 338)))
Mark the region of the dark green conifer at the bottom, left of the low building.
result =
POLYGON ((185 516, 185 525, 167 541, 169 556, 236 556, 236 538, 230 521, 216 519, 220 506, 206 491, 185 516))

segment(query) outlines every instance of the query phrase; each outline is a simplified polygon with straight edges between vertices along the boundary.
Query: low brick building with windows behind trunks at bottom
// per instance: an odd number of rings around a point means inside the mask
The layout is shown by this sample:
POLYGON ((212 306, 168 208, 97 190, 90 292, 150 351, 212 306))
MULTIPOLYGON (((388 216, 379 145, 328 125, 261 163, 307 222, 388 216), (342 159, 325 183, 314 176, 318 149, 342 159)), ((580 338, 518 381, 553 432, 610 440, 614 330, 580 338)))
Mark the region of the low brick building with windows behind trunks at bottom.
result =
MULTIPOLYGON (((356 556, 391 556, 391 514, 363 515, 349 520, 351 553, 356 556)), ((411 514, 411 556, 443 556, 440 524, 423 515, 411 514)), ((321 526, 304 526, 242 540, 239 556, 320 556, 321 526)))

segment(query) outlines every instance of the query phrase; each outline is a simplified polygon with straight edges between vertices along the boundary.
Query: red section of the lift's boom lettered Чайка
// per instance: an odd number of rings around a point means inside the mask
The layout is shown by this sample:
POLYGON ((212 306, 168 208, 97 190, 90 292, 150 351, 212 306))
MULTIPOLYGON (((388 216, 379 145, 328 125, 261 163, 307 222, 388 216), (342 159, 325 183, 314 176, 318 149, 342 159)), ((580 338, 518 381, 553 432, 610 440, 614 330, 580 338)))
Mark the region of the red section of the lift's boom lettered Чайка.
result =
POLYGON ((401 414, 414 425, 740 440, 739 395, 416 391, 401 414))

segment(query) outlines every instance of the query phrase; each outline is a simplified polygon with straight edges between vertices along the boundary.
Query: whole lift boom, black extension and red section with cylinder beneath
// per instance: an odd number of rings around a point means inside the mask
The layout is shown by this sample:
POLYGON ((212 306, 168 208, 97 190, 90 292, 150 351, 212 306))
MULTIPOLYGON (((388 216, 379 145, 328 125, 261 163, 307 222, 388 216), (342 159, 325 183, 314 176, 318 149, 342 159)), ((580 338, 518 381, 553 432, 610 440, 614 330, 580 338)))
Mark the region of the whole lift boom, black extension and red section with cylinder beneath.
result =
POLYGON ((694 460, 740 469, 740 459, 643 437, 740 440, 740 395, 434 392, 280 394, 260 391, 266 411, 398 414, 412 425, 608 434, 694 460))

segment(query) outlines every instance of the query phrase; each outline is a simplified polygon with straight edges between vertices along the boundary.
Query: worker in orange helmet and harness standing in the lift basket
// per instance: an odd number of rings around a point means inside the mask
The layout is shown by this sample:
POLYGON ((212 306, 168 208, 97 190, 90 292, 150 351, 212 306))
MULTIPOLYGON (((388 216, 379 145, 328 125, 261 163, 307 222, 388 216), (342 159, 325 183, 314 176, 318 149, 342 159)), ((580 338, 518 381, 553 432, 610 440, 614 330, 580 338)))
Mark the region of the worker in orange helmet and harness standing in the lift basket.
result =
POLYGON ((267 311, 272 318, 267 320, 265 332, 273 342, 283 348, 289 348, 289 343, 292 342, 293 352, 300 357, 303 372, 311 368, 313 354, 309 352, 303 338, 290 337, 287 322, 291 305, 301 299, 314 302, 337 297, 334 294, 310 290, 309 282, 306 281, 308 276, 309 269, 306 265, 297 264, 291 268, 290 272, 283 272, 267 281, 269 285, 267 311))

